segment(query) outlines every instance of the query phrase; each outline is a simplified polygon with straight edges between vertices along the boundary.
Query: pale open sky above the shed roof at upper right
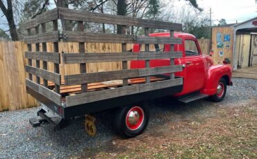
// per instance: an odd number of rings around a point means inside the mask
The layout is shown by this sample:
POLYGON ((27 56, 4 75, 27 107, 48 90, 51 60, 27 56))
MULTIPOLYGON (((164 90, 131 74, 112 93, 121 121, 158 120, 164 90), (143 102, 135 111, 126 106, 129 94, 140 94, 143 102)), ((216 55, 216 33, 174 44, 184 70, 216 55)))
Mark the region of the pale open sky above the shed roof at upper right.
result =
MULTIPOLYGON (((176 1, 181 5, 185 1, 176 1)), ((257 17, 256 0, 197 0, 200 8, 210 14, 212 9, 213 24, 218 24, 220 19, 226 19, 227 24, 247 21, 257 17)))

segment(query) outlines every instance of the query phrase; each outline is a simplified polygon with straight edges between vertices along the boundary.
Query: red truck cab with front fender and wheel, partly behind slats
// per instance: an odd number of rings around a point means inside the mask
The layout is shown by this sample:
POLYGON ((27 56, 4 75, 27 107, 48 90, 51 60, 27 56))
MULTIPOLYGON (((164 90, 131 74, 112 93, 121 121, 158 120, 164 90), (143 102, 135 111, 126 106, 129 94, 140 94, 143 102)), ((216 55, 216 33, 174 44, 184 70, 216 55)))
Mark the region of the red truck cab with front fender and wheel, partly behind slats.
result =
MULTIPOLYGON (((169 32, 154 33, 153 37, 170 37, 169 32)), ((175 73, 175 76, 183 77, 183 91, 174 96, 188 100, 210 96, 216 102, 223 100, 226 93, 226 85, 231 85, 232 68, 229 64, 215 65, 209 55, 203 55, 198 41, 194 35, 174 32, 175 38, 182 39, 182 44, 175 44, 174 51, 181 51, 183 57, 174 59, 175 65, 182 65, 183 71, 175 73)), ((141 46, 135 44, 133 52, 140 51, 141 46)), ((167 52, 170 45, 154 45, 155 51, 167 52)), ((169 66, 170 59, 154 59, 150 61, 151 67, 169 66)), ((131 69, 144 68, 144 61, 132 61, 131 69)), ((183 101, 183 100, 182 100, 183 101)))

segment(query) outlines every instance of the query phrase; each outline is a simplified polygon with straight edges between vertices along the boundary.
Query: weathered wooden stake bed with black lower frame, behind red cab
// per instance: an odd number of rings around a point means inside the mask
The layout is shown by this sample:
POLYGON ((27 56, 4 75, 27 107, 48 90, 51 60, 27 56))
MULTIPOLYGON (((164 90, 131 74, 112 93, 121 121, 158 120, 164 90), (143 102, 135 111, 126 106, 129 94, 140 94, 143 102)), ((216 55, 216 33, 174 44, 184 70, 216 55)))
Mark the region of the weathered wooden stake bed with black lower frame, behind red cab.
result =
POLYGON ((174 44, 181 44, 182 40, 173 37, 174 30, 181 30, 181 24, 56 8, 31 19, 23 27, 28 30, 28 36, 24 39, 28 45, 25 53, 28 59, 28 93, 63 118, 172 95, 183 88, 183 78, 174 76, 174 73, 182 71, 182 66, 174 65, 174 59, 182 57, 181 52, 174 51, 174 44), (76 21, 77 30, 60 32, 59 19, 76 21), (47 32, 46 24, 49 22, 52 29, 47 32), (85 32, 85 22, 122 26, 123 34, 85 32), (144 28, 144 36, 126 35, 128 26, 144 28), (170 37, 150 37, 150 28, 169 30, 170 37), (59 53, 60 41, 78 42, 79 52, 59 53), (51 53, 47 52, 47 42, 53 43, 51 53), (122 52, 85 53, 85 43, 96 42, 121 44, 122 52), (145 50, 140 53, 127 52, 126 44, 143 44, 145 50), (150 51, 150 44, 170 44, 171 50, 150 51), (32 50, 33 45, 35 51, 32 50), (170 65, 152 68, 152 59, 170 59, 170 65), (129 69, 128 62, 132 60, 144 60, 145 68, 129 69), (86 64, 97 62, 122 62, 122 70, 87 73, 86 64), (49 71, 49 63, 54 65, 53 72, 49 71), (61 79, 60 64, 80 64, 80 73, 64 75, 64 79, 61 79))

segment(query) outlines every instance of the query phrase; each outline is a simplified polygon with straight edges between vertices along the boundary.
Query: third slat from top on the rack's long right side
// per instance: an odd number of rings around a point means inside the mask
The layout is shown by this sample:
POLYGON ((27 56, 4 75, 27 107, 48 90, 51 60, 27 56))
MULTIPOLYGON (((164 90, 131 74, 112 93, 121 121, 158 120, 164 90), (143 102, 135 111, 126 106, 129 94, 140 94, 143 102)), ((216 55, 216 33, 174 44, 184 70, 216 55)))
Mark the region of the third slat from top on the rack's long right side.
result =
POLYGON ((94 62, 122 62, 124 60, 172 59, 182 57, 182 52, 140 52, 140 53, 63 53, 63 64, 94 62))

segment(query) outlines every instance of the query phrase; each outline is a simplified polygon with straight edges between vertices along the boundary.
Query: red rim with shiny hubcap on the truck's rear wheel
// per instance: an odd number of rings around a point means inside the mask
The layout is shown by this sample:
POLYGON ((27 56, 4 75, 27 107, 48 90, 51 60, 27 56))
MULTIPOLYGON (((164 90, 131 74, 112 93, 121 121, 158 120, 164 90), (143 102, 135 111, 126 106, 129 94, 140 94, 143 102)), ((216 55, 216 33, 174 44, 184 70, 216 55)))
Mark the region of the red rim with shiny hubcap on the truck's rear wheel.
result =
POLYGON ((133 106, 126 114, 126 127, 130 130, 136 130, 144 122, 144 111, 140 106, 133 106))

